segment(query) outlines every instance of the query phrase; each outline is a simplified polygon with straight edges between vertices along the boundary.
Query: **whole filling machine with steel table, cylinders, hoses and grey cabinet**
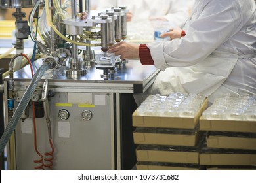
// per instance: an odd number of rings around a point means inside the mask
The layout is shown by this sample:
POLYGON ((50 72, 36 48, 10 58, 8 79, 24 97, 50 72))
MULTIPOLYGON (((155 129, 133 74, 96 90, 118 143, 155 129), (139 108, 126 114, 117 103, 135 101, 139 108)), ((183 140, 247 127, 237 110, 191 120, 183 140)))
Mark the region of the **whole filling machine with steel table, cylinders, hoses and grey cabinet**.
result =
POLYGON ((32 59, 17 53, 4 78, 0 149, 7 145, 8 169, 132 169, 133 93, 144 93, 159 71, 107 52, 126 39, 126 7, 92 16, 88 0, 1 2, 33 6, 29 26, 18 20, 16 32, 35 42, 32 59), (34 61, 35 53, 43 58, 34 61), (30 64, 14 72, 20 57, 30 64))

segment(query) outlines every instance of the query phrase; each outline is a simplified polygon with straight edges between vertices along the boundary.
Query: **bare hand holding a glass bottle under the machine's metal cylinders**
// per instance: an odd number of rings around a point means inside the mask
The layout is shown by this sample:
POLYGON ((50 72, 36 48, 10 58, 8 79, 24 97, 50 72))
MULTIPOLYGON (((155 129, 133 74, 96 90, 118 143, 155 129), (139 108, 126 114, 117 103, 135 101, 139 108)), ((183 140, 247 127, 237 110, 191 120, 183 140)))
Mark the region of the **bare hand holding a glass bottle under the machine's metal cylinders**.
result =
POLYGON ((121 59, 137 59, 139 58, 139 44, 121 41, 108 49, 108 52, 121 56, 121 59))

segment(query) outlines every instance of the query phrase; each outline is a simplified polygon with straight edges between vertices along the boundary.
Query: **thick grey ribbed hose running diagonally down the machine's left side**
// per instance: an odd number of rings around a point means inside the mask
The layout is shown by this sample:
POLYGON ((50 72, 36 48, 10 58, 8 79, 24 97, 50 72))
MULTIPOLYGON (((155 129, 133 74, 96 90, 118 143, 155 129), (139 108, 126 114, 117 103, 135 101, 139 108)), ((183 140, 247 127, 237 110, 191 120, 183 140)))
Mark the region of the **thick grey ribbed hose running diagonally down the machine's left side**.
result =
POLYGON ((35 88, 37 86, 37 83, 48 69, 51 68, 51 64, 49 62, 43 63, 41 67, 37 70, 35 75, 32 78, 32 81, 30 82, 30 85, 28 86, 26 92, 24 93, 22 99, 20 100, 20 103, 18 104, 18 107, 16 108, 9 124, 7 125, 1 139, 0 139, 0 153, 3 153, 3 150, 5 149, 5 146, 7 142, 9 141, 14 129, 16 128, 16 125, 20 121, 20 117, 22 113, 24 112, 25 108, 28 105, 28 102, 30 101, 33 92, 35 92, 35 88))

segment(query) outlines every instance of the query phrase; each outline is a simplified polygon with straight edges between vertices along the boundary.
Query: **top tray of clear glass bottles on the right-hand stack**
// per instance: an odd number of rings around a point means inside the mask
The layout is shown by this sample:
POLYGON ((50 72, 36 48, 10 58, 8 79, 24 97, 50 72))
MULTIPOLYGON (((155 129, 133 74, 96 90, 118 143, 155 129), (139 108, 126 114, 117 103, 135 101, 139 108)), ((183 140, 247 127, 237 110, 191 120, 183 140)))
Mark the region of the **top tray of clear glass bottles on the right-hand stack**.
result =
POLYGON ((256 96, 219 97, 203 111, 200 130, 256 133, 256 96))

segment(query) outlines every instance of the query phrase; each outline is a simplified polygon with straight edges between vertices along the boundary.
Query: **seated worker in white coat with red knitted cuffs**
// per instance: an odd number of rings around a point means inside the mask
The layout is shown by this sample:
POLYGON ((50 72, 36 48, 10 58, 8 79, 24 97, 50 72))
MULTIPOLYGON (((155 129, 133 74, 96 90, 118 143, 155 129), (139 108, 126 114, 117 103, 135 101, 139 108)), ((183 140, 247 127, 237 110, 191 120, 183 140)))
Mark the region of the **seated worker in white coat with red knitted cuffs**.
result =
POLYGON ((165 33, 171 41, 123 41, 109 52, 161 69, 150 93, 203 93, 211 102, 223 93, 256 95, 254 0, 198 0, 194 7, 184 31, 165 33))

